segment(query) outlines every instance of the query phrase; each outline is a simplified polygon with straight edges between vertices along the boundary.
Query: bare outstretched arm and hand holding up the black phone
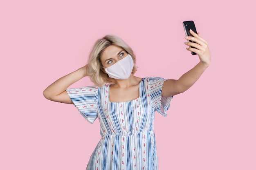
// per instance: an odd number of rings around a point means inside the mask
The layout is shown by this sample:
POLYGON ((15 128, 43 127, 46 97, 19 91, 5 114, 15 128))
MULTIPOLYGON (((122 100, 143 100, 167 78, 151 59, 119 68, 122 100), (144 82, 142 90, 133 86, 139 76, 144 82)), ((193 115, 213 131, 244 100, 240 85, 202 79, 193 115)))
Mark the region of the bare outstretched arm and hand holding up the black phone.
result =
POLYGON ((192 30, 190 33, 194 36, 185 37, 186 40, 191 40, 192 42, 185 42, 187 46, 193 46, 195 48, 186 48, 188 51, 193 51, 198 54, 200 62, 193 67, 190 71, 186 72, 182 75, 179 79, 168 79, 164 82, 162 88, 162 96, 170 97, 173 95, 177 95, 179 93, 183 93, 184 91, 188 90, 204 73, 206 68, 210 65, 211 61, 211 54, 208 47, 208 43, 200 34, 196 34, 192 30))

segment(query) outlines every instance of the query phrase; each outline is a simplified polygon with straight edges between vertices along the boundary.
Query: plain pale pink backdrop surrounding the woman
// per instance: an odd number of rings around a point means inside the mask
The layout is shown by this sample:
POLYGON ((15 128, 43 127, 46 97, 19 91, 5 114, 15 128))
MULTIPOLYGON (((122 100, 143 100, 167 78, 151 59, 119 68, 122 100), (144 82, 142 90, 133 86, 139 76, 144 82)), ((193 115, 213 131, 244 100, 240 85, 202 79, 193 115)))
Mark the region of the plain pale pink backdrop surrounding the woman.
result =
MULTIPOLYGON (((2 0, 0 169, 84 170, 99 122, 43 90, 84 66, 106 34, 137 55, 138 77, 178 79, 198 63, 184 45, 194 20, 211 66, 156 113, 159 169, 256 170, 256 3, 254 0, 2 0)), ((91 85, 84 78, 72 88, 91 85)))

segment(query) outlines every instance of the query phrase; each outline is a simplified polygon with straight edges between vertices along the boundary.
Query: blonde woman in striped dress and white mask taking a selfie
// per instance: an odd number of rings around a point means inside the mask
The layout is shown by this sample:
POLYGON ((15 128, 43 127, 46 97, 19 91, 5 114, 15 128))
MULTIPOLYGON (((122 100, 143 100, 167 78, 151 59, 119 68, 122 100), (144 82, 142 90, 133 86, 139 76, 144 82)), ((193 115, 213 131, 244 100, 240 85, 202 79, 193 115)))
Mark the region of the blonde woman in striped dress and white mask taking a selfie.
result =
POLYGON ((174 95, 189 89, 210 64, 207 42, 199 34, 185 37, 186 48, 198 54, 200 62, 179 79, 139 78, 135 55, 120 38, 99 39, 88 64, 61 77, 45 89, 52 101, 74 104, 90 123, 99 119, 101 140, 92 153, 87 170, 157 170, 157 150, 153 132, 155 111, 166 116, 174 95), (90 76, 96 86, 66 89, 90 76))

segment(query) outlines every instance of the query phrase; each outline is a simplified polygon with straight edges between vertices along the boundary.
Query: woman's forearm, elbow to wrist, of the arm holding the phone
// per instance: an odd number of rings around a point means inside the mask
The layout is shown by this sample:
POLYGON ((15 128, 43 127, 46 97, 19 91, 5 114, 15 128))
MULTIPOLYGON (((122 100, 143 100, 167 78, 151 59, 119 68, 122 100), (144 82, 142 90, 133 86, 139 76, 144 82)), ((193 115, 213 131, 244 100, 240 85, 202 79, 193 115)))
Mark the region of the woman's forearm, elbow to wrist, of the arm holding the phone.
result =
POLYGON ((175 84, 179 87, 180 93, 188 90, 195 82, 199 79, 199 77, 204 73, 209 64, 203 64, 199 62, 195 65, 191 70, 182 75, 175 84))

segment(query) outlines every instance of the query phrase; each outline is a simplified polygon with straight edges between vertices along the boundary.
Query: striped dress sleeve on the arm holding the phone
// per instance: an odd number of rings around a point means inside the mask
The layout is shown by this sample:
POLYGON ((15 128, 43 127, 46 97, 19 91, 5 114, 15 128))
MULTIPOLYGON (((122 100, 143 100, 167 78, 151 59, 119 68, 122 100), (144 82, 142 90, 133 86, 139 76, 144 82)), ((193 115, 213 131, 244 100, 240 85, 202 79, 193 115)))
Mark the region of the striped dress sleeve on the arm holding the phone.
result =
POLYGON ((155 111, 163 115, 167 116, 166 110, 168 110, 171 106, 171 97, 162 97, 162 87, 164 81, 166 79, 161 77, 149 77, 148 78, 148 90, 151 99, 151 104, 155 111))

